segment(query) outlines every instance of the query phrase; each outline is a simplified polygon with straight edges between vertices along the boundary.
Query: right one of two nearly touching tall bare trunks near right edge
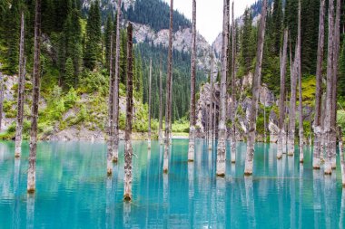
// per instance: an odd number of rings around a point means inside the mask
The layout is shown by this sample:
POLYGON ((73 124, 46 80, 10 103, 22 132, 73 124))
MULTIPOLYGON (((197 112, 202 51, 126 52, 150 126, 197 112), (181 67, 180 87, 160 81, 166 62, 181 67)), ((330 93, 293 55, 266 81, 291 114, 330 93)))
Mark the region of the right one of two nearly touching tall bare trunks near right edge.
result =
POLYGON ((340 57, 340 6, 341 0, 337 0, 336 17, 334 24, 334 40, 333 40, 333 87, 332 87, 332 99, 331 99, 331 120, 330 126, 332 131, 332 157, 331 167, 335 169, 337 167, 337 84, 338 84, 338 66, 340 57))

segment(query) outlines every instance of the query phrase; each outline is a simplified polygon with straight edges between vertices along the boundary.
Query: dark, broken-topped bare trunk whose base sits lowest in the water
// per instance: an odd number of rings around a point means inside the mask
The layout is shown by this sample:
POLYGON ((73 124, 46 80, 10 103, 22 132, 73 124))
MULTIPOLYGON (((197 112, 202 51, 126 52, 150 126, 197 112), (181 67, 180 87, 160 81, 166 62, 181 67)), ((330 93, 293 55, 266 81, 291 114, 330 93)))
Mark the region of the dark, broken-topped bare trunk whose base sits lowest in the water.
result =
POLYGON ((124 145, 124 200, 132 199, 132 119, 133 119, 133 25, 127 27, 126 129, 124 145))

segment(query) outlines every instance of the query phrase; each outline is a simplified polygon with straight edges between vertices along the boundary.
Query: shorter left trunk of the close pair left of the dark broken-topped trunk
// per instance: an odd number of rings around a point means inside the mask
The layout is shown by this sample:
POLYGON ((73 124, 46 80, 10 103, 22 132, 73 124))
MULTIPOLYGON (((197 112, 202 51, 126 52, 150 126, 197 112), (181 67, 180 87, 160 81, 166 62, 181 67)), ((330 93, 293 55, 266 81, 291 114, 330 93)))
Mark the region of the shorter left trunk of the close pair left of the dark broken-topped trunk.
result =
POLYGON ((109 57, 109 102, 108 102, 108 152, 106 170, 107 174, 113 173, 113 33, 110 35, 110 57, 109 57))

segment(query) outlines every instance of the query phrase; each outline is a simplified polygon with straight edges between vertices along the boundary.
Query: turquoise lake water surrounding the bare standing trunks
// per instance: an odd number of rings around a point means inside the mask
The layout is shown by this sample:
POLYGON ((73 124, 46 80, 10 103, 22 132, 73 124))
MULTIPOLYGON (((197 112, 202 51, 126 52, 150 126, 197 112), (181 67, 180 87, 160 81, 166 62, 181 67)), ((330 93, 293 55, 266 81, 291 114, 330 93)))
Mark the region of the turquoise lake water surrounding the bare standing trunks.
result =
MULTIPOLYGON (((106 177, 104 143, 38 145, 36 194, 26 195, 28 145, 20 161, 15 144, 0 143, 0 228, 345 228, 340 169, 331 177, 313 171, 311 151, 276 160, 276 145, 256 145, 254 176, 243 177, 246 146, 237 163, 215 177, 215 155, 188 140, 173 140, 169 175, 163 148, 133 142, 133 202, 123 203, 123 153, 106 177)), ((123 145, 120 148, 123 152, 123 145)), ((228 148, 227 158, 230 158, 228 148)))

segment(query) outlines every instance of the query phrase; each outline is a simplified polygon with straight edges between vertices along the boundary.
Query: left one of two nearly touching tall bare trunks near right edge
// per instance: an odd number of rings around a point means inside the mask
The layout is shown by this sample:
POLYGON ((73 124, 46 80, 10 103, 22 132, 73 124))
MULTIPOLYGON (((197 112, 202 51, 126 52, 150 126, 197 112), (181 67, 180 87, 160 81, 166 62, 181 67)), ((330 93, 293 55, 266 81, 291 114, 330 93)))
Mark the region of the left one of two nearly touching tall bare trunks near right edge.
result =
POLYGON ((332 93, 333 93, 333 54, 334 54, 334 4, 333 0, 329 1, 329 42, 328 42, 328 56, 327 56, 327 90, 326 90, 326 114, 325 114, 325 148, 326 148, 326 161, 324 173, 326 175, 331 174, 331 158, 333 157, 334 134, 332 129, 332 93))

